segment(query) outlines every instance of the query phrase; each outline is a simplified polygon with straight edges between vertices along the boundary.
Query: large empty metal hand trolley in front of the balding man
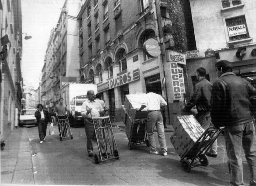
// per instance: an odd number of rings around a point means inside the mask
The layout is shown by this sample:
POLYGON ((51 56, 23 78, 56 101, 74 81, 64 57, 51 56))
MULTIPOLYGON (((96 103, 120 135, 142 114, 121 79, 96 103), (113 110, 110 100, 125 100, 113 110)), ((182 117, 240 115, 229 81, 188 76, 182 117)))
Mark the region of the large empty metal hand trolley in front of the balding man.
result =
POLYGON ((109 115, 104 117, 91 117, 93 121, 94 131, 99 154, 94 154, 96 164, 108 159, 119 159, 117 143, 112 130, 112 124, 109 115))

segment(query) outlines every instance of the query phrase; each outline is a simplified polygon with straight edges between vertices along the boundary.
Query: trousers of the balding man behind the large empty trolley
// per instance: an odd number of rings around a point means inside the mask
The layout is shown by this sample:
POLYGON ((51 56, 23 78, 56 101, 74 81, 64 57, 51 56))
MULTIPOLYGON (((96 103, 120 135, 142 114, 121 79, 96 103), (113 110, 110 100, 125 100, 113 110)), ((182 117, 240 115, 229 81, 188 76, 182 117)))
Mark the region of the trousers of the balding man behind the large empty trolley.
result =
MULTIPOLYGON (((102 125, 102 120, 99 120, 98 123, 100 124, 100 126, 97 125, 97 122, 95 122, 95 124, 96 124, 95 128, 96 129, 98 127, 102 127, 101 126, 102 125)), ((86 148, 87 148, 88 154, 93 153, 93 146, 92 146, 93 133, 94 133, 93 121, 92 121, 92 119, 85 117, 86 148)), ((107 151, 107 147, 105 147, 106 144, 105 144, 105 142, 103 142, 103 139, 102 139, 102 136, 103 136, 103 138, 105 138, 105 135, 104 135, 104 132, 102 132, 102 135, 101 135, 101 132, 98 132, 97 134, 98 134, 99 143, 100 143, 99 146, 100 146, 100 150, 101 150, 101 154, 102 154, 103 152, 107 151)))

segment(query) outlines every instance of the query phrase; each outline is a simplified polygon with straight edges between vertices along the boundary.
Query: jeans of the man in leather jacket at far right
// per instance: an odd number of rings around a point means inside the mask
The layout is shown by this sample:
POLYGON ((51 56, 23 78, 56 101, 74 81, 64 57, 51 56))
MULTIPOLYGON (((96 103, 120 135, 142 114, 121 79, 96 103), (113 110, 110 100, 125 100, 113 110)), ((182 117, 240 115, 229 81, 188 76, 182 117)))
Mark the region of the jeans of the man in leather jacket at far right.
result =
POLYGON ((250 186, 256 186, 256 134, 254 123, 248 122, 238 126, 226 126, 224 135, 231 185, 244 185, 241 157, 243 148, 251 174, 250 186))

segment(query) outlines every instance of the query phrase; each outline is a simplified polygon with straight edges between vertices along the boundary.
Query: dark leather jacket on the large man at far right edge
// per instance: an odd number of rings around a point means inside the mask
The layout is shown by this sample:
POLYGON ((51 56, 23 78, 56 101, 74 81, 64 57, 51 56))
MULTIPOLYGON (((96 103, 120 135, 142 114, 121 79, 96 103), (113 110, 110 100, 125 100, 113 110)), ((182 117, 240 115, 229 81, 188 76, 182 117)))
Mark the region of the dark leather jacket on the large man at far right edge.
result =
POLYGON ((241 125, 253 121, 250 97, 256 89, 232 72, 222 74, 214 83, 211 117, 215 127, 241 125))

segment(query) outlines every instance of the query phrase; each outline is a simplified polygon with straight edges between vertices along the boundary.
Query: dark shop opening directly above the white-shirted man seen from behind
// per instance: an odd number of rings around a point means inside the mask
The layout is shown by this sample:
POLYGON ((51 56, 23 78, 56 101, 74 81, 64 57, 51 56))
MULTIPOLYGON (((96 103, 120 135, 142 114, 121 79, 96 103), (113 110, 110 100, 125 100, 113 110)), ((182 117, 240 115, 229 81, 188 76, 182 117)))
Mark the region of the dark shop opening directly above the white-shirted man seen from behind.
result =
POLYGON ((145 78, 146 93, 154 92, 162 96, 160 74, 155 74, 145 78))

